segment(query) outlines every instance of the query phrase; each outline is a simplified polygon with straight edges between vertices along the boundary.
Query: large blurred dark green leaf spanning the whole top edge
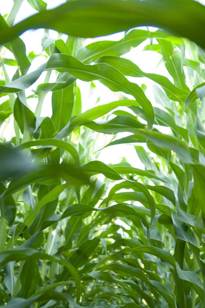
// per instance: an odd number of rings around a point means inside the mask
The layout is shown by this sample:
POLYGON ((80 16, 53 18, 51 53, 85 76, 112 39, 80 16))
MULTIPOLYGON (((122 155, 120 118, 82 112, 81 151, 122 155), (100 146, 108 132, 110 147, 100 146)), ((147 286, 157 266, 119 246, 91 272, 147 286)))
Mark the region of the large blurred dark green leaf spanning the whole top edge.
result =
POLYGON ((188 37, 205 47, 203 45, 204 36, 201 33, 204 26, 203 17, 203 5, 192 0, 188 0, 188 3, 184 0, 172 0, 171 2, 150 0, 136 3, 120 0, 112 2, 98 0, 96 3, 89 0, 86 4, 78 0, 65 3, 53 10, 40 12, 9 30, 5 29, 0 35, 0 44, 12 40, 25 30, 43 27, 73 36, 95 37, 128 30, 132 27, 151 25, 169 30, 178 36, 188 37), (58 16, 58 22, 55 16, 58 16), (100 18, 102 16, 103 19, 100 18), (80 22, 76 23, 76 20, 80 22), (189 20, 195 24, 194 29, 189 20))

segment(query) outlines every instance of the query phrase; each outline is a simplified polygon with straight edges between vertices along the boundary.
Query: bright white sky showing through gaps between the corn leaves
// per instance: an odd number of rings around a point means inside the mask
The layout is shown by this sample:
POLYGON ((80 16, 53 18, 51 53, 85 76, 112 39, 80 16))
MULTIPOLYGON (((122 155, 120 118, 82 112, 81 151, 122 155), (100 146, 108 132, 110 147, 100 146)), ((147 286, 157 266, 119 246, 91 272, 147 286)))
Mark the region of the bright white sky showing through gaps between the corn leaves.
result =
MULTIPOLYGON (((58 6, 59 4, 64 3, 65 1, 63 0, 47 0, 47 9, 54 8, 58 6)), ((201 3, 205 4, 205 0, 200 1, 201 3)), ((13 6, 13 0, 2 0, 0 1, 0 13, 2 15, 8 14, 13 6)), ((21 5, 21 8, 18 12, 18 15, 15 19, 15 23, 19 22, 22 19, 25 19, 26 17, 35 14, 36 10, 31 7, 31 5, 24 0, 24 2, 21 5)), ((38 30, 29 30, 25 33, 23 33, 20 37, 21 39, 25 42, 26 46, 26 53, 27 55, 29 52, 34 51, 34 53, 39 54, 42 52, 42 45, 41 45, 41 40, 42 37, 44 36, 44 30, 43 29, 38 29, 38 30)), ((50 36, 52 38, 57 38, 58 34, 50 30, 50 36)), ((124 33, 118 33, 114 34, 111 36, 107 36, 106 40, 119 40, 124 36, 124 33)), ((62 39, 66 38, 65 35, 63 35, 62 39)), ((88 39, 86 44, 92 42, 92 41, 97 41, 97 40, 103 40, 105 39, 104 37, 101 38, 96 38, 96 39, 88 39)), ((170 77, 169 73, 165 69, 164 64, 160 64, 158 66, 158 63, 161 59, 161 55, 158 54, 157 52, 152 52, 152 51, 143 51, 143 47, 146 46, 149 43, 147 41, 146 43, 142 43, 139 47, 132 49, 129 53, 124 55, 124 58, 129 58, 131 61, 136 63, 141 70, 148 72, 148 73, 155 73, 155 74, 161 74, 166 77, 168 77, 171 81, 172 78, 170 77)), ((5 57, 6 58, 11 58, 11 53, 7 52, 5 57)), ((44 57, 37 57, 33 60, 32 65, 29 69, 29 72, 35 70, 38 66, 40 66, 42 63, 46 61, 46 58, 44 57)), ((8 70, 9 77, 12 78, 16 68, 15 67, 9 67, 6 66, 6 69, 8 70)), ((37 80, 37 82, 32 85, 29 89, 26 90, 26 95, 32 94, 31 90, 36 89, 36 86, 39 83, 44 82, 45 78, 45 72, 40 76, 40 78, 37 80)), ((146 90, 146 95, 148 99, 154 104, 154 96, 152 93, 152 84, 154 84, 153 81, 145 79, 145 78, 132 78, 132 77, 127 77, 130 81, 136 82, 138 85, 141 86, 142 83, 145 83, 147 85, 147 90, 146 90)), ((55 74, 53 74, 53 79, 51 75, 50 82, 55 81, 56 77, 55 74)), ((99 81, 94 82, 95 85, 97 86, 91 97, 89 96, 89 91, 90 87, 89 84, 84 82, 84 81, 78 81, 78 85, 80 86, 81 89, 81 97, 82 97, 82 106, 83 106, 83 111, 86 109, 90 109, 95 105, 95 102, 97 100, 97 97, 100 96, 100 101, 98 104, 105 104, 108 102, 116 101, 119 99, 118 94, 110 91, 108 88, 106 88, 104 85, 102 85, 99 81)), ((42 108, 42 113, 41 116, 51 116, 52 115, 52 109, 51 109, 51 96, 52 92, 49 92, 44 100, 43 103, 43 108, 42 108)), ((128 96, 128 95, 126 95, 128 96)), ((132 98, 132 96, 128 96, 129 98, 132 98)), ((0 102, 3 102, 5 100, 4 98, 0 99, 0 102)), ((35 111, 36 104, 37 104, 37 99, 29 99, 27 100, 27 103, 29 107, 31 108, 32 111, 35 111)), ((120 108, 123 109, 123 108, 120 108)), ((130 112, 130 110, 129 110, 130 112)), ((168 132, 169 129, 167 130, 165 127, 163 127, 163 132, 168 132)), ((11 134, 12 131, 7 130, 7 134, 5 134, 5 138, 7 140, 11 139, 11 134)), ((1 134, 3 132, 0 132, 1 134)), ((128 135, 128 134, 127 134, 128 135)), ((121 133, 118 134, 118 138, 124 137, 125 134, 121 133)), ((99 140, 97 140, 97 148, 100 149, 105 141, 106 136, 103 134, 100 134, 99 140)), ((109 136, 107 137, 109 138, 109 136)), ((109 140, 109 139, 108 139, 109 140)), ((108 143, 108 142, 106 142, 108 143)), ((142 144, 141 144, 142 145, 142 144)), ((138 159, 136 155, 136 151, 134 149, 134 146, 132 145, 117 145, 117 146, 110 146, 106 149, 103 149, 100 153, 100 156, 98 157, 99 160, 102 162, 105 162, 106 164, 108 163, 118 163, 121 159, 121 157, 126 157, 126 160, 136 168, 144 168, 140 160, 138 159)))

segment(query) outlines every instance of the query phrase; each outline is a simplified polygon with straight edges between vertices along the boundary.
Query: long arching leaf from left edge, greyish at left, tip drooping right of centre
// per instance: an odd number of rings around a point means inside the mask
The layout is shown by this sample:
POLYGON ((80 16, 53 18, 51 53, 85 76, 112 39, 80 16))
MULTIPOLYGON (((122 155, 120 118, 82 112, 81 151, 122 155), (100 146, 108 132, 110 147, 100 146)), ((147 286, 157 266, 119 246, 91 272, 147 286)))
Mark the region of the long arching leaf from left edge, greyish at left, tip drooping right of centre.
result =
POLYGON ((141 104, 147 117, 148 126, 151 128, 154 120, 154 111, 151 102, 138 85, 128 81, 117 69, 107 64, 85 65, 76 58, 66 54, 53 54, 47 64, 42 64, 36 71, 27 76, 22 76, 8 85, 0 86, 0 93, 25 90, 38 79, 43 70, 51 69, 68 71, 76 78, 84 81, 99 80, 112 91, 124 91, 127 94, 131 94, 141 104))

